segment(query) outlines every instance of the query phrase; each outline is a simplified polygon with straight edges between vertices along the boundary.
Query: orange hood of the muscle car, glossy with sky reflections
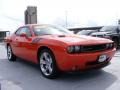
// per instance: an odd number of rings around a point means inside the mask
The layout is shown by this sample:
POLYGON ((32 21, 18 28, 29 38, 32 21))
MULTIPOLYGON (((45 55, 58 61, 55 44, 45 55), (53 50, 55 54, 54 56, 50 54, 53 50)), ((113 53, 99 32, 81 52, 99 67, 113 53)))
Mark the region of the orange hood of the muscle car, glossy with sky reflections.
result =
POLYGON ((104 38, 97 38, 85 35, 45 35, 42 36, 44 39, 51 41, 59 41, 69 45, 86 45, 86 44, 102 44, 112 42, 111 40, 104 38))

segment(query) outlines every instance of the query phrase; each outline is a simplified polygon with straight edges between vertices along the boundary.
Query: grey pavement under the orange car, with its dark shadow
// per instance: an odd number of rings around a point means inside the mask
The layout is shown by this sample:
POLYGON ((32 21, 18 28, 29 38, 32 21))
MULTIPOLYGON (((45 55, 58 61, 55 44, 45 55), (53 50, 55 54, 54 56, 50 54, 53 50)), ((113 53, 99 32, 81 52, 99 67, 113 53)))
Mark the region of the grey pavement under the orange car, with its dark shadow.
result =
POLYGON ((64 73, 57 79, 44 78, 39 68, 17 59, 9 62, 6 49, 0 44, 1 90, 120 90, 120 50, 111 64, 102 70, 64 73))

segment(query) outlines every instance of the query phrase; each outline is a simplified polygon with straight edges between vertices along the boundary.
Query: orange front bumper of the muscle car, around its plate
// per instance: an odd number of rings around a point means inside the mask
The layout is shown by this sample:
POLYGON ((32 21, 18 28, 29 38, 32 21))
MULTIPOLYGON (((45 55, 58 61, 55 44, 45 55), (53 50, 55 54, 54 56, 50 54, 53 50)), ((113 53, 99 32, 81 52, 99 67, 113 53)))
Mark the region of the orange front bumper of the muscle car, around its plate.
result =
POLYGON ((78 71, 107 66, 115 54, 116 49, 81 54, 61 54, 57 57, 58 68, 62 71, 78 71), (106 55, 107 59, 103 62, 98 62, 100 55, 106 55))

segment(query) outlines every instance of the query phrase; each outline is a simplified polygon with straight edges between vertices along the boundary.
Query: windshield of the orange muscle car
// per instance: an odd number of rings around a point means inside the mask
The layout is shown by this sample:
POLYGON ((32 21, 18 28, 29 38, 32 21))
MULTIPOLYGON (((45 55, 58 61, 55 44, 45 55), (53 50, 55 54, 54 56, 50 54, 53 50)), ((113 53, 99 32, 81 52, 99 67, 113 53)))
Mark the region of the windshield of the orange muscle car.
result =
POLYGON ((61 27, 54 26, 34 26, 34 33, 36 36, 39 35, 66 35, 72 34, 69 30, 61 27))

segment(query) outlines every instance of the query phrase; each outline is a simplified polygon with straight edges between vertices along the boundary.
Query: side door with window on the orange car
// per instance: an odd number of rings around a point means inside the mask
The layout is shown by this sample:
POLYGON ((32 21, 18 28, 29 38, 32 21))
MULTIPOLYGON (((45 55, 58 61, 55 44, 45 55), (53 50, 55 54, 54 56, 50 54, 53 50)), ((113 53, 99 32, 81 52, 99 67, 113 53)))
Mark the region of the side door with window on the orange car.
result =
POLYGON ((19 35, 16 37, 16 42, 18 57, 29 60, 28 57, 31 56, 30 44, 32 42, 32 34, 29 27, 25 26, 20 28, 19 35), (25 36, 21 36, 21 34, 25 34, 25 36))

